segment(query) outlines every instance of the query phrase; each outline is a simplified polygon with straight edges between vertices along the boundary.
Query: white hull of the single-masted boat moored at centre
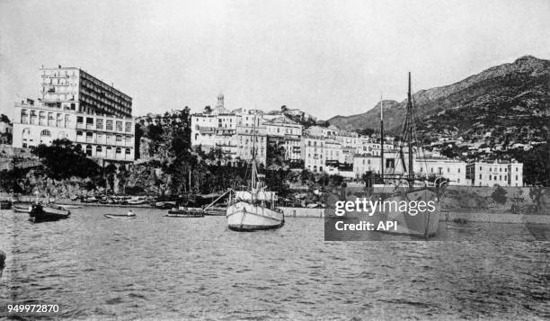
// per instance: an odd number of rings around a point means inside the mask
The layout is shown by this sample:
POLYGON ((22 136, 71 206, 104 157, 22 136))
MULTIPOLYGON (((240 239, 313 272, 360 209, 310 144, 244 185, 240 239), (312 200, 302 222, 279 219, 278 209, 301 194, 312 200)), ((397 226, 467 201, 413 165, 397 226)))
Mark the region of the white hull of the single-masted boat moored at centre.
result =
POLYGON ((285 224, 280 210, 271 210, 246 201, 239 201, 226 210, 227 227, 234 231, 274 229, 285 224))

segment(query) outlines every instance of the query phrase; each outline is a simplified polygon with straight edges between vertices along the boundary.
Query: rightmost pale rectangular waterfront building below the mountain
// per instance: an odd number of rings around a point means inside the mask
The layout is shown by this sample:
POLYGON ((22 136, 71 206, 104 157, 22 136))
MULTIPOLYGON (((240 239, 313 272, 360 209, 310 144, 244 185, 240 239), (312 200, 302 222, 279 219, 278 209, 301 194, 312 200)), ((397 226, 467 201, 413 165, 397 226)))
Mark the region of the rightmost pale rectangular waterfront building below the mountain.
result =
POLYGON ((474 186, 523 186, 523 164, 484 161, 466 165, 466 178, 474 186))

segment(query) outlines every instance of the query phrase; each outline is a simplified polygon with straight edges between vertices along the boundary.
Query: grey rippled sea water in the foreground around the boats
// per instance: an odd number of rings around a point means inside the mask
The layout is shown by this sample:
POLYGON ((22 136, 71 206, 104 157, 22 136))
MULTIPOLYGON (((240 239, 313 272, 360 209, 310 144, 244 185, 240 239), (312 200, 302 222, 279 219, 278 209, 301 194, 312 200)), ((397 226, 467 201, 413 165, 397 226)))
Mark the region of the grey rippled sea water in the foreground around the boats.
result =
POLYGON ((320 218, 237 233, 224 217, 72 212, 32 224, 0 211, 1 301, 57 302, 71 319, 550 317, 550 244, 521 225, 457 231, 471 242, 330 243, 320 218))

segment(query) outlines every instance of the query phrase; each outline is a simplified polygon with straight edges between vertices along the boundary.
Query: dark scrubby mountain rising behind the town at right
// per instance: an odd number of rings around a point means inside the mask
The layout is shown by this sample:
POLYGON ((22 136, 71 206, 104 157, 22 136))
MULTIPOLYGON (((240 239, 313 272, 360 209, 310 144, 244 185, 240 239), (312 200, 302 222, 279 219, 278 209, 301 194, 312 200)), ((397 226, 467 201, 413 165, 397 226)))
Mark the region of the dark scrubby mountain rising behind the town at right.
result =
MULTIPOLYGON (((525 140, 546 138, 550 120, 550 61, 531 56, 491 67, 452 85, 412 94, 423 138, 507 133, 525 140)), ((406 100, 384 102, 385 128, 398 134, 406 100)), ((340 129, 378 129, 380 103, 370 111, 328 120, 340 129)))

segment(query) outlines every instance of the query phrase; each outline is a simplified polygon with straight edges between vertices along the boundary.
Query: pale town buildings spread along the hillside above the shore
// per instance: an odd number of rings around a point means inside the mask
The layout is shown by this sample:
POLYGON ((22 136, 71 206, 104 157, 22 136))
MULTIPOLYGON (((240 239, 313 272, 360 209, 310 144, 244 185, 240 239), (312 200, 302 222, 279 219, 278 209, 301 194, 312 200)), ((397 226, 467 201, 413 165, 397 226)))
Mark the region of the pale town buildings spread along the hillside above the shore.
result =
MULTIPOLYGON (((151 145, 147 138, 136 135, 136 126, 162 127, 161 118, 133 117, 129 95, 76 67, 42 67, 39 76, 40 98, 15 103, 18 116, 13 125, 7 117, 3 119, 3 137, 13 132, 13 139, 10 146, 3 138, 2 156, 22 157, 22 164, 33 164, 31 148, 51 145, 55 139, 70 140, 102 165, 131 165, 150 160, 151 154, 162 155, 147 150, 151 145)), ((407 147, 399 148, 403 144, 389 135, 381 144, 379 132, 361 135, 339 129, 299 109, 229 109, 224 101, 224 95, 218 94, 214 107, 208 105, 204 111, 190 114, 185 124, 191 127, 191 147, 206 153, 217 150, 224 165, 250 161, 255 151, 256 161, 265 166, 270 151, 276 150, 292 169, 340 175, 349 182, 360 182, 365 174, 380 174, 381 162, 386 174, 407 173, 402 165, 407 147)), ((413 147, 414 173, 432 180, 442 177, 450 185, 523 186, 521 163, 449 158, 439 152, 449 143, 449 138, 439 138, 428 146, 413 147)), ((479 143, 460 144, 481 148, 479 143)), ((3 164, 4 169, 13 166, 13 162, 3 164)))

